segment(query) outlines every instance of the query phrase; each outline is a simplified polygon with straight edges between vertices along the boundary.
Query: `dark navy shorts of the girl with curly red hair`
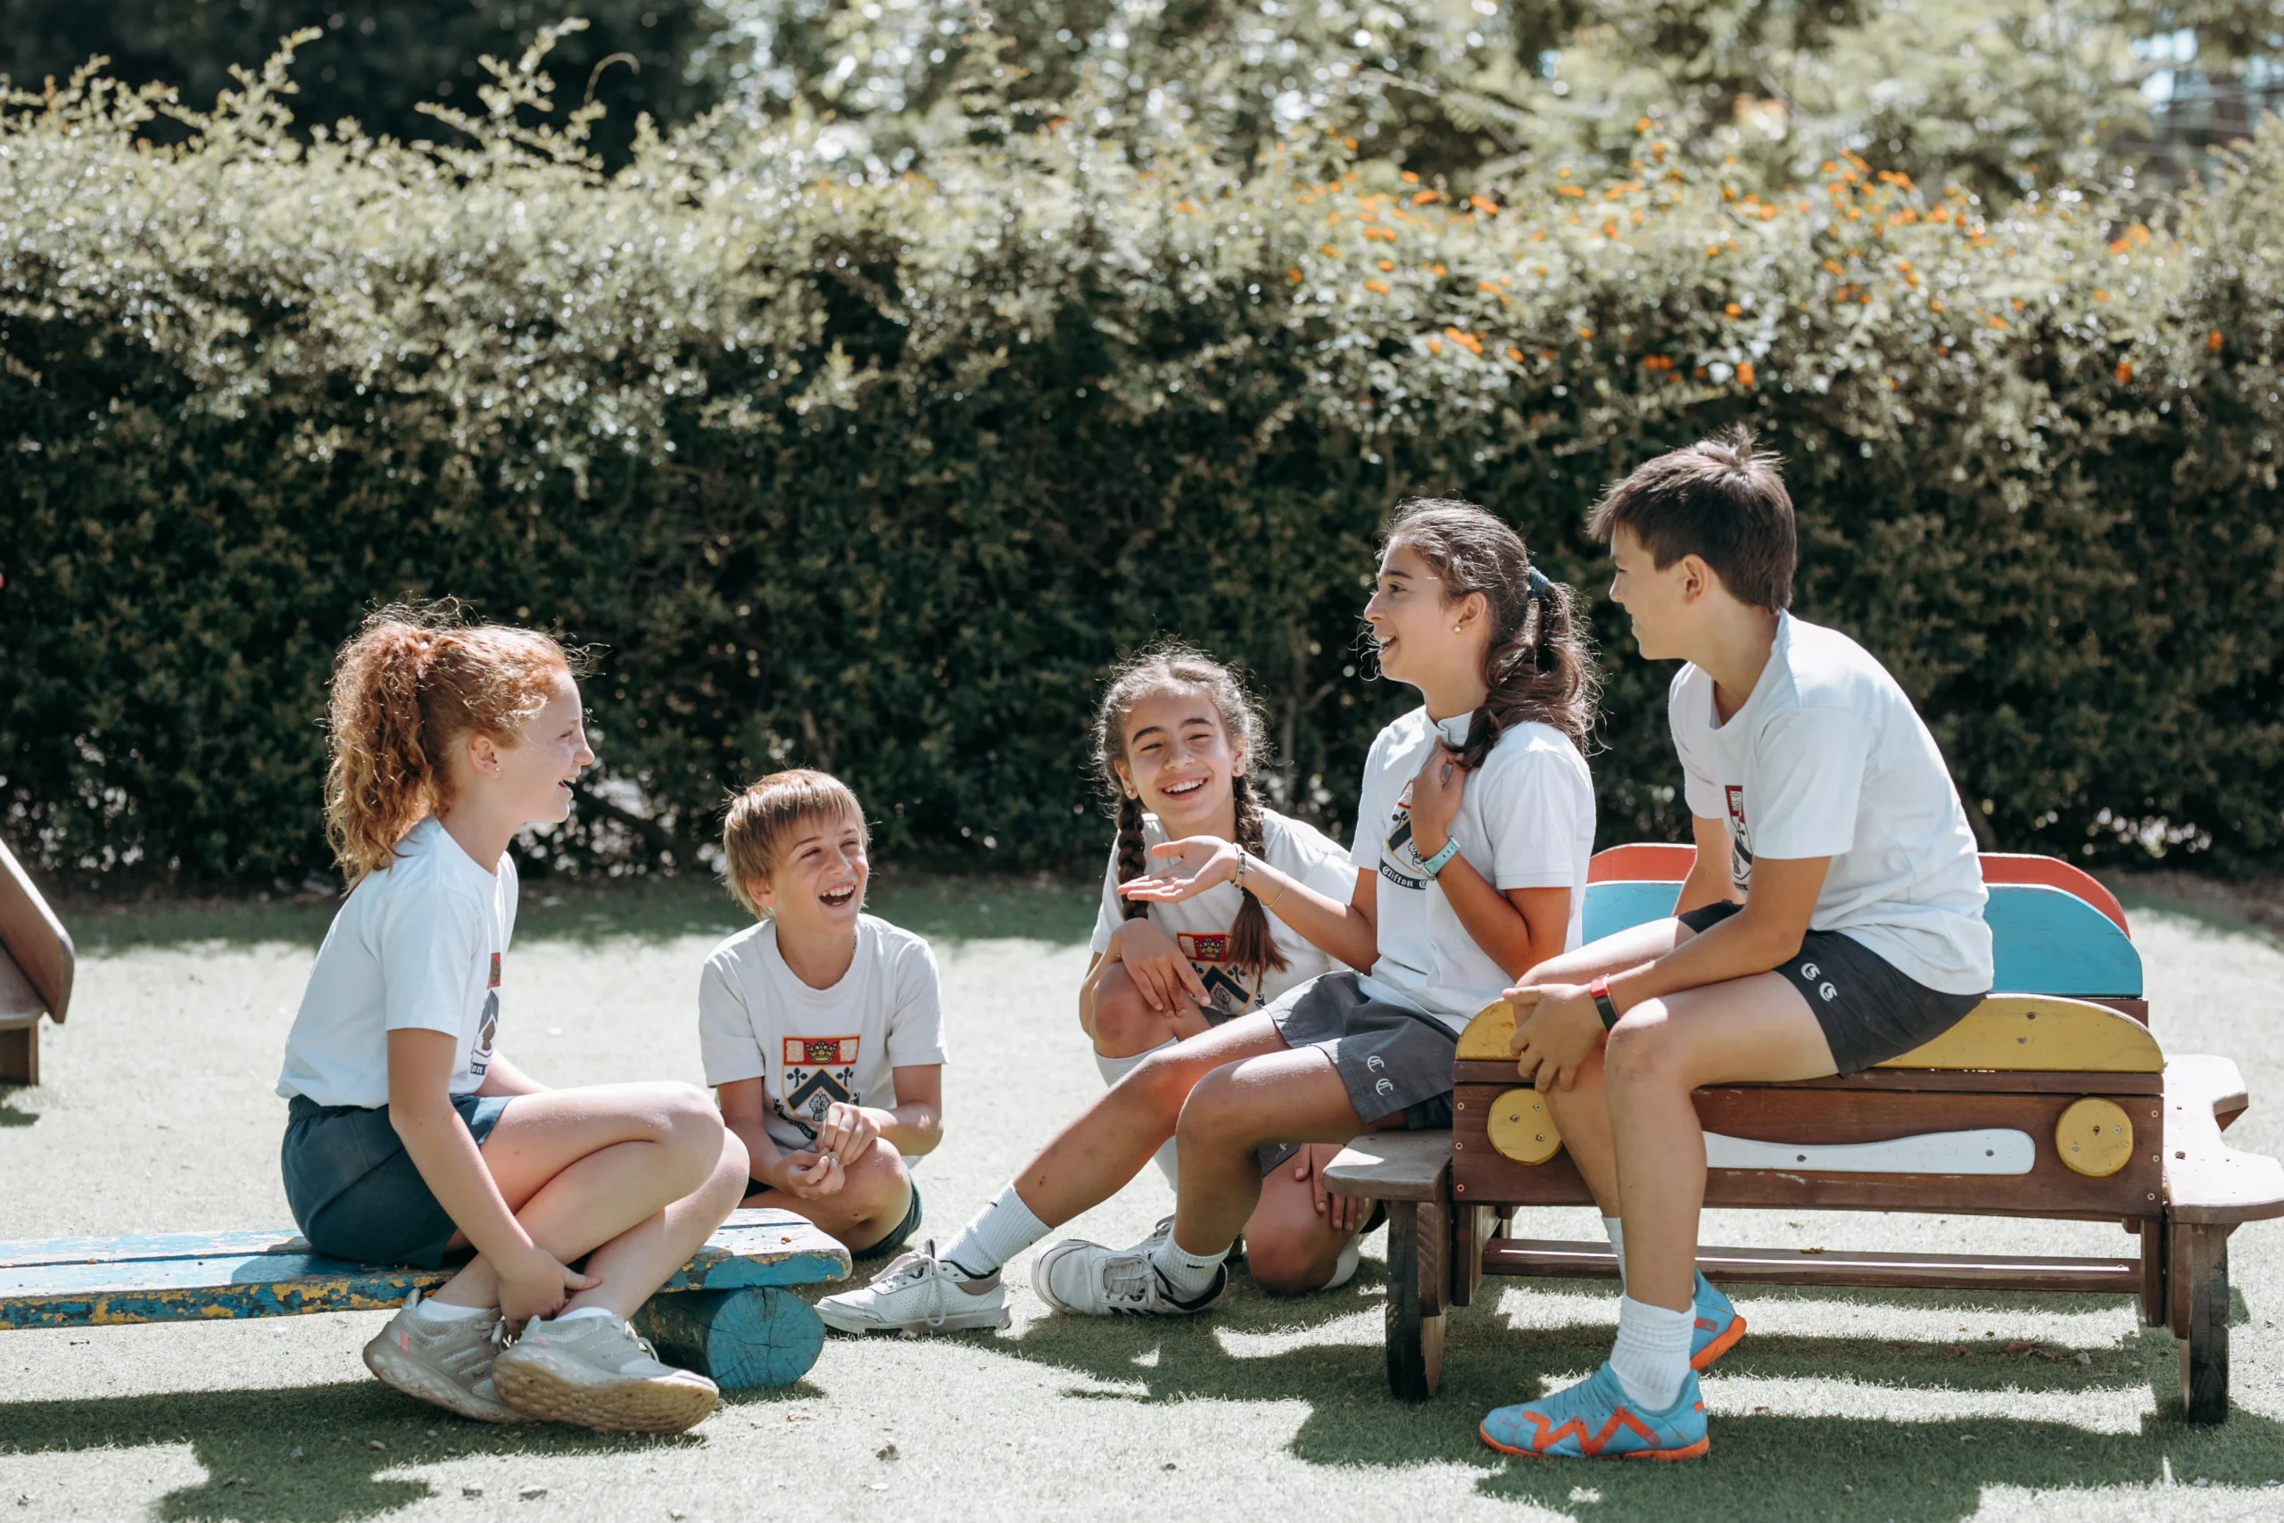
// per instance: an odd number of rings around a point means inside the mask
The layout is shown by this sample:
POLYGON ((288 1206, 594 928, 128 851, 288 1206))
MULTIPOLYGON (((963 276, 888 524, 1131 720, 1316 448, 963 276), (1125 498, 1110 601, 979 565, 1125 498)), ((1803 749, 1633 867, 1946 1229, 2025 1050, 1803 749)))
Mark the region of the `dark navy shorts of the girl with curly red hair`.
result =
MULTIPOLYGON (((484 1146, 509 1098, 455 1094, 452 1110, 484 1146)), ((457 1228, 388 1123, 386 1105, 317 1105, 297 1094, 286 1112, 279 1162, 295 1226, 317 1254, 370 1265, 443 1267, 457 1228)))

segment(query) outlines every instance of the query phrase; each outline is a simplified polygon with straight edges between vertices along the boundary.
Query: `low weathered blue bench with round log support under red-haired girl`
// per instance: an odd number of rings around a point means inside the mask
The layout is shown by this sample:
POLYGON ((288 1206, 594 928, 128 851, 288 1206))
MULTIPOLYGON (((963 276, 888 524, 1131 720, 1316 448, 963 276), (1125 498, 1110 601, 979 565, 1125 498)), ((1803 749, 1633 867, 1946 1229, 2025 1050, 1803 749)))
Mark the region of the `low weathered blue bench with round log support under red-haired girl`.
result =
MULTIPOLYGON (((724 1391, 790 1386, 818 1361, 825 1322, 786 1286, 847 1272, 847 1249, 804 1217, 738 1210, 635 1313, 635 1329, 724 1391)), ((292 1233, 0 1242, 0 1331, 388 1311, 448 1279, 327 1258, 292 1233)))

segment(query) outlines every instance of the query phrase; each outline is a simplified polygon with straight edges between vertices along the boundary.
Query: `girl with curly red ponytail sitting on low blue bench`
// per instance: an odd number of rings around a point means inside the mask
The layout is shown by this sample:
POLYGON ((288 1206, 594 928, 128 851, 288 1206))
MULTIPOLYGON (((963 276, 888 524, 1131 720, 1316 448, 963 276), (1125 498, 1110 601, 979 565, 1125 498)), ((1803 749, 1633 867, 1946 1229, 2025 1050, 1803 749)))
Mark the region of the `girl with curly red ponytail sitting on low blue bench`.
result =
POLYGON ((548 1089, 500 1050, 507 845, 594 765, 573 658, 452 603, 384 607, 333 662, 329 728, 349 897, 286 1037, 286 1201, 317 1254, 457 1267, 365 1365, 482 1423, 690 1427, 713 1381, 626 1320, 735 1210, 745 1144, 690 1085, 548 1089))

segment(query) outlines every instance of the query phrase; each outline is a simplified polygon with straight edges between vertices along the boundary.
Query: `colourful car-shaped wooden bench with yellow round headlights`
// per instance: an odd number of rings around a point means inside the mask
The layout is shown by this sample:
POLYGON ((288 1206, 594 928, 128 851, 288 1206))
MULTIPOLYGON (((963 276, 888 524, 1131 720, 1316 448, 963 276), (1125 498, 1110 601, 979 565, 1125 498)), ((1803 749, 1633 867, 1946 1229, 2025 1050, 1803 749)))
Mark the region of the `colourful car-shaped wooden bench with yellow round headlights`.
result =
MULTIPOLYGON (((1587 936, 1670 916, 1690 861, 1692 847, 1597 856, 1587 936)), ((2179 1338, 2186 1416, 2220 1423, 2229 1233, 2284 1217, 2284 1165, 2222 1142, 2247 1103, 2234 1062, 2158 1050, 2113 895, 2051 859, 1987 856, 1985 881, 1998 989, 2012 993, 1868 1073, 1699 1089, 1706 1206, 2120 1222, 2124 1251, 1702 1249, 1697 1263, 1738 1283, 2133 1295, 2149 1327, 2179 1338)), ((1496 1000, 1459 1037, 1450 1133, 1357 1137, 1325 1169, 1334 1194, 1389 1203, 1389 1384, 1412 1400, 1434 1393, 1443 1320, 1485 1274, 1617 1276, 1603 1242, 1514 1235, 1521 1208, 1592 1194, 1517 1080, 1512 1030, 1496 1000)))

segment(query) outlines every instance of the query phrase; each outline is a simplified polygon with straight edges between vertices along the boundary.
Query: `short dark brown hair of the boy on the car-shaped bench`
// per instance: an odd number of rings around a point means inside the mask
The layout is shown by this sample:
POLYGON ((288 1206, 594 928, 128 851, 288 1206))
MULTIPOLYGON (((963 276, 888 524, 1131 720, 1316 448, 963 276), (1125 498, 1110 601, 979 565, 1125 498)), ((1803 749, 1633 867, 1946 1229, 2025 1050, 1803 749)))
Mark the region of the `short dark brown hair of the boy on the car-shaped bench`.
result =
POLYGON ((1713 566, 1738 603, 1784 610, 1793 603, 1793 495, 1777 457, 1752 448, 1738 425, 1686 450, 1635 466, 1601 493, 1587 532, 1608 543, 1617 530, 1642 541, 1658 571, 1683 555, 1713 566))

